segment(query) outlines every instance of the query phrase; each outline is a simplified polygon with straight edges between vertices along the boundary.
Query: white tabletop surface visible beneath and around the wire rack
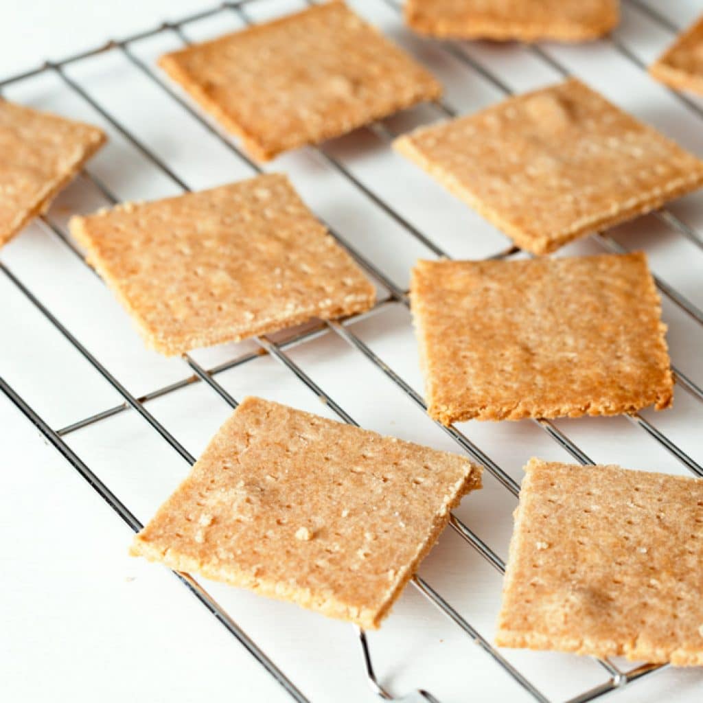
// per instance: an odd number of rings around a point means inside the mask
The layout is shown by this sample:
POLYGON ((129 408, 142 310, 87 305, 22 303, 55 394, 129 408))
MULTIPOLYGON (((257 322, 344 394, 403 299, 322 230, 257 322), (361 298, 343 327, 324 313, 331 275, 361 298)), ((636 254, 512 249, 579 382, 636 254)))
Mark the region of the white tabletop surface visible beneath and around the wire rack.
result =
MULTIPOLYGON (((651 0, 654 4, 654 0, 651 0)), ((413 38, 399 16, 381 0, 354 6, 412 51, 447 87, 446 100, 462 112, 501 98, 485 79, 441 46, 413 38)), ((702 9, 695 1, 670 1, 666 14, 683 26, 702 9)), ((8 75, 202 9, 188 0, 52 0, 1 5, 0 74, 8 75)), ((263 0, 259 17, 297 8, 292 0, 263 0)), ((223 12, 188 25, 193 39, 237 26, 223 12)), ((618 36, 649 62, 671 41, 671 32, 625 2, 618 36)), ((172 33, 132 47, 148 65, 179 46, 172 33)), ((703 155, 703 120, 662 86, 648 79, 609 41, 588 46, 547 46, 550 53, 643 119, 703 155)), ((520 46, 467 46, 512 89, 524 90, 558 76, 520 46)), ((250 175, 247 166, 188 117, 166 93, 138 74, 119 52, 99 56, 67 71, 107 110, 134 129, 192 188, 214 186, 250 175)), ((16 84, 8 98, 103 124, 101 117, 56 77, 16 84)), ((395 128, 436 119, 431 108, 415 110, 395 128)), ((123 199, 157 198, 178 192, 114 130, 110 144, 91 163, 92 171, 123 199)), ((455 257, 479 258, 508 243, 476 214, 436 186, 418 169, 390 152, 387 143, 360 130, 330 150, 368 186, 455 257)), ((408 270, 425 250, 399 225, 335 174, 314 150, 281 157, 273 169, 290 172, 318 214, 405 286, 408 270)), ((89 212, 104 201, 78 179, 58 198, 50 217, 63 225, 72 212, 89 212)), ((703 231, 703 195, 672 209, 703 231)), ((628 248, 650 254, 652 267, 692 301, 703 306, 703 252, 654 219, 643 217, 614 236, 628 248)), ((567 253, 596 252, 588 240, 567 253)), ((6 246, 1 260, 100 358, 134 394, 190 374, 179 359, 146 352, 112 295, 60 240, 36 224, 6 246)), ((27 299, 0 276, 0 373, 52 427, 62 427, 122 399, 51 328, 27 299)), ((703 331, 664 300, 671 356, 703 382, 703 331)), ((408 312, 399 306, 354 325, 375 352, 415 388, 421 387, 408 312)), ((225 345, 198 352, 207 366, 254 349, 225 345)), ((380 371, 342 340, 326 335, 291 352, 326 392, 361 425, 388 434, 457 450, 380 371)), ((259 394, 331 416, 331 411, 275 361, 257 361, 219 375, 236 397, 259 394)), ((195 384, 148 409, 197 455, 229 413, 211 389, 195 384)), ((703 408, 681 389, 666 413, 643 413, 697 461, 703 461, 703 408)), ((586 453, 602 463, 683 473, 673 456, 624 418, 560 421, 586 453)), ((0 681, 8 701, 287 701, 288 697, 217 621, 165 569, 127 557, 131 533, 90 486, 36 430, 0 396, 0 681)), ((470 439, 516 479, 530 456, 569 457, 536 425, 467 423, 470 439)), ((68 437, 71 446, 141 520, 186 473, 187 465, 128 411, 68 437)), ((505 556, 515 500, 489 474, 485 489, 469 496, 458 514, 505 556)), ((492 638, 501 581, 491 567, 449 531, 421 568, 430 581, 478 630, 492 638)), ((206 584, 232 617, 250 633, 302 691, 316 702, 362 702, 366 688, 352 628, 250 593, 206 584)), ((442 703, 522 701, 530 698, 456 626, 412 587, 370 636, 380 678, 394 692, 422 686, 442 703)), ((545 652, 505 651, 510 662, 553 700, 574 696, 605 681, 590 659, 545 652)), ((703 674, 664 671, 617 694, 622 702, 699 701, 703 674)))

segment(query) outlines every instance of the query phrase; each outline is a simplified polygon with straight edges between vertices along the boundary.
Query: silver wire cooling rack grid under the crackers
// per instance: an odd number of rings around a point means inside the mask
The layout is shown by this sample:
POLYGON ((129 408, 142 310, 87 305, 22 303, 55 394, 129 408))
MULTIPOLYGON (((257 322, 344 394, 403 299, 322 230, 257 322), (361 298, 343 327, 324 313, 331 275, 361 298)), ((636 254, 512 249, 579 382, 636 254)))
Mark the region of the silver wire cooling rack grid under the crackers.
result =
MULTIPOLYGON (((394 4, 392 0, 375 1, 380 6, 383 6, 386 11, 390 11, 396 21, 398 20, 400 8, 394 4)), ((235 20, 239 25, 250 25, 257 21, 257 19, 254 18, 256 8, 267 3, 269 3, 269 0, 240 0, 238 2, 220 4, 186 18, 165 22, 158 27, 135 34, 134 36, 118 41, 110 41, 108 44, 98 46, 89 51, 84 51, 75 56, 70 56, 56 62, 47 62, 34 70, 23 72, 21 75, 7 77, 6 79, 0 80, 0 89, 11 91, 14 86, 22 84, 23 82, 44 75, 52 75, 54 78, 58 79, 58 84, 61 89, 69 91, 73 96, 77 96, 80 101, 93 110, 104 124, 110 127, 116 134, 120 135, 122 140, 126 142, 130 148, 141 155, 143 160, 148 162, 153 169, 159 172, 166 181, 172 183, 174 188, 183 192, 190 191, 191 187, 183 176, 179 175, 178 169, 175 169, 172 165, 167 163, 167 161, 146 141, 141 139, 129 125, 125 124, 124 120, 117 117, 114 110, 112 110, 110 106, 105 105, 101 97, 96 96, 90 89, 86 89, 79 79, 72 77, 70 74, 70 68, 74 65, 89 62, 91 59, 106 53, 119 53, 127 61, 130 70, 138 72, 153 86, 153 89, 162 93, 162 96, 165 96, 169 101, 172 101, 179 110, 186 112, 189 119, 196 122, 202 129, 205 129, 208 134, 217 141, 219 148, 226 150, 233 155, 233 157, 236 157, 236 159, 244 167, 250 169, 251 172, 260 173, 262 172, 262 168, 250 160, 247 155, 238 148, 236 141, 231 140, 216 124, 213 124, 207 116, 203 115, 197 107, 188 101, 186 96, 183 96, 178 89, 174 88, 172 84, 169 84, 167 79, 155 69, 153 63, 149 63, 147 60, 140 58, 135 47, 138 46, 141 41, 162 34, 169 34, 169 36, 175 38, 180 44, 188 44, 191 41, 188 33, 188 29, 191 26, 202 20, 220 17, 221 15, 228 15, 230 19, 235 20)), ((660 15, 657 11, 653 11, 650 6, 643 4, 640 0, 628 0, 628 12, 639 13, 639 15, 646 18, 647 21, 652 22, 652 24, 657 27, 662 27, 667 32, 673 32, 676 28, 676 25, 673 25, 670 20, 660 15)), ((425 40, 419 39, 413 39, 412 41, 413 46, 419 46, 420 42, 425 42, 425 40)), ((633 49, 628 46, 627 42, 617 34, 614 34, 604 41, 610 42, 613 49, 620 53, 628 62, 632 63, 633 66, 637 67, 638 70, 645 67, 646 64, 638 53, 633 51, 633 49)), ((429 44, 429 42, 427 43, 429 44)), ((554 51, 552 47, 535 45, 524 48, 519 47, 518 50, 526 56, 531 56, 531 58, 541 64, 543 71, 552 72, 555 78, 568 75, 570 72, 569 67, 560 60, 558 53, 554 51)), ((460 70, 477 75, 483 82, 498 91, 498 93, 509 95, 514 92, 512 86, 494 72, 485 60, 477 58, 475 51, 472 51, 471 47, 467 44, 458 42, 432 44, 432 51, 450 56, 453 64, 460 67, 460 70)), ((685 110, 688 110, 696 117, 703 117, 703 110, 697 101, 680 96, 678 93, 671 94, 676 101, 681 102, 685 110)), ((423 110, 414 110, 410 112, 412 113, 411 117, 413 120, 424 121, 434 117, 453 117, 458 111, 448 99, 447 101, 434 103, 429 111, 424 110, 423 112, 423 110)), ((372 136, 383 146, 387 147, 389 141, 401 131, 402 127, 399 129, 399 124, 403 124, 402 119, 391 119, 371 124, 369 127, 364 128, 364 131, 368 131, 369 136, 372 136)), ((401 212, 401 209, 396 207, 389 199, 385 198, 382 193, 379 193, 377 188, 370 186, 363 176, 357 174, 354 168, 350 167, 347 163, 348 159, 344 159, 344 157, 340 157, 337 154, 337 150, 328 145, 316 147, 314 149, 311 148, 311 150, 314 150, 316 157, 318 157, 318 160, 320 160, 325 167, 341 176, 344 182, 347 183, 347 187, 356 191, 356 193, 363 198, 366 207, 377 210, 382 214, 382 217, 386 218, 388 221, 392 221, 392 223, 402 231, 405 237, 411 238, 419 247, 423 248, 425 255, 450 257, 449 247, 440 245, 440 243, 437 242, 437 238, 430 236, 424 228, 414 224, 410 217, 406 216, 404 212, 401 212)), ((108 179, 93 173, 91 168, 85 169, 79 180, 82 181, 80 187, 93 189, 93 191, 99 195, 99 198, 101 198, 102 204, 111 205, 120 200, 112 186, 108 184, 108 179)), ((676 236, 684 238, 695 249, 703 248, 703 236, 699 228, 689 224, 684 217, 681 217, 673 209, 660 209, 654 213, 653 217, 659 219, 660 223, 666 228, 669 228, 676 236)), ((61 217, 58 217, 55 209, 52 209, 49 214, 41 218, 41 225, 51 233, 51 236, 56 236, 56 238, 60 240, 60 243, 68 247, 70 252, 75 254, 80 261, 83 262, 82 252, 67 235, 65 221, 62 221, 61 217)), ((283 335, 258 337, 254 340, 258 347, 257 349, 251 349, 250 351, 238 354, 212 366, 205 366, 200 361, 197 361, 195 354, 185 354, 183 355, 183 362, 187 368, 187 375, 183 375, 179 380, 153 388, 149 392, 139 394, 138 396, 135 396, 128 389, 127 385, 121 382, 117 375, 108 370, 108 365, 98 359, 98 356, 91 352, 89 347, 83 344, 77 335, 72 333, 70 328, 53 313, 51 306, 43 302, 39 295, 35 295, 32 288, 22 280, 22 276, 15 273, 9 264, 0 261, 0 270, 4 273, 6 279, 21 292, 27 301, 30 302, 42 316, 44 316, 46 321, 49 321, 49 323, 53 325, 53 328, 55 328, 60 335, 65 337, 65 340, 70 343, 75 352, 82 356, 82 358, 108 382, 122 400, 118 404, 109 406, 98 412, 90 413, 70 424, 61 427, 53 427, 3 378, 0 378, 0 388, 14 404, 20 408, 22 413, 37 426, 41 434, 49 440, 67 461, 69 461, 91 486, 96 489, 98 494, 108 502, 120 517, 122 517, 124 522, 127 522, 129 527, 134 530, 140 529, 141 523, 139 520, 127 505, 125 505, 120 498, 112 492, 108 485, 101 480, 98 473, 96 473, 96 469, 94 467, 91 468, 78 456, 76 451, 72 449, 68 443, 66 439, 67 436, 85 427, 103 423, 105 420, 114 418, 124 411, 134 411, 138 413, 149 427, 154 430, 161 439, 167 442, 181 458, 186 460, 188 464, 192 464, 195 461, 194 456, 186 449, 185 444, 179 441, 179 439, 167 429, 165 423, 157 419, 157 416, 148 409, 148 404, 150 404, 151 401, 168 396, 180 389, 202 383, 224 400, 228 406, 234 408, 237 405, 237 400, 230 390, 219 381, 219 377, 229 370, 249 365, 253 361, 260 359, 262 354, 267 354, 280 362, 280 364, 285 369, 289 370, 299 382, 302 382, 309 391, 318 399, 321 399, 338 418, 346 423, 356 425, 357 423, 352 415, 350 415, 341 404, 337 403, 328 392, 325 392, 323 387, 312 378, 311 374, 307 373, 307 371, 302 368, 301 364, 294 361, 291 355, 291 352, 298 347, 302 347, 305 344, 314 342, 314 340, 318 340, 327 335, 338 337, 338 339, 344 342, 344 344, 347 344, 350 349, 353 349, 355 353, 361 354, 366 361, 373 364, 382 375, 385 375, 389 382, 406 396, 406 399, 410 400, 411 403, 417 406, 421 411, 425 411, 426 408, 423 397, 417 389, 415 389, 413 384, 406 380, 406 374, 395 370, 386 359, 383 359, 372 349, 370 344, 362 339, 361 335, 354 331, 358 323, 368 318, 378 316, 390 307, 399 306, 407 308, 407 291, 403 285, 396 282, 396 277, 389 275, 382 266, 375 262, 373 257, 369 257, 368 254, 361 252, 359 247, 355 246, 352 236, 344 233, 339 226, 333 226, 331 224, 328 224, 328 226, 337 241, 352 254, 356 262, 358 262, 377 283, 380 295, 378 297, 378 302, 372 310, 363 315, 354 316, 342 321, 328 321, 325 323, 307 325, 302 329, 283 333, 283 335)), ((615 236, 612 236, 611 233, 598 233, 598 235, 591 238, 591 243, 593 243, 595 247, 606 251, 621 252, 625 250, 621 243, 619 243, 619 240, 615 236)), ((487 257, 507 258, 520 255, 522 254, 516 247, 508 246, 498 252, 488 254, 487 257)), ((672 287, 669 283, 666 283, 665 280, 662 280, 662 278, 657 277, 656 281, 662 295, 666 297, 666 299, 669 299, 671 304, 676 306, 683 315, 688 318, 691 324, 703 325, 703 311, 697 307, 697 304, 693 302, 690 297, 683 295, 677 288, 672 287)), ((692 375, 687 373, 685 368, 680 367, 676 359, 674 359, 673 370, 676 375, 676 382, 681 389, 687 392, 696 402, 703 401, 703 389, 697 385, 697 382, 693 380, 692 375)), ((686 470, 690 471, 693 475, 703 476, 703 467, 697 460, 690 456, 690 453, 684 451, 677 441, 671 439, 671 437, 662 432, 657 425, 654 425, 654 423, 645 418, 643 414, 638 413, 628 419, 633 425, 636 425, 636 427, 646 432, 647 435, 666 452, 670 453, 686 470)), ((429 423, 431 420, 427 418, 427 422, 429 423)), ((498 486, 507 490, 512 496, 517 496, 519 491, 518 482, 508 471, 503 469, 494 458, 491 458, 488 453, 475 444, 475 441, 470 439, 470 434, 472 433, 467 429, 467 425, 460 428, 456 426, 443 427, 438 423, 436 424, 441 432, 444 432, 453 443, 458 445, 460 450, 465 451, 474 460, 483 465, 491 477, 496 479, 498 486)), ((559 423, 540 419, 535 420, 534 425, 536 425, 539 430, 543 431, 547 437, 554 440, 560 448, 564 449, 578 462, 583 464, 594 463, 588 454, 581 449, 581 446, 579 446, 574 439, 569 437, 567 432, 560 428, 559 423)), ((476 550, 491 567, 496 569, 500 574, 504 572, 505 565, 503 559, 465 520, 461 519, 458 515, 452 515, 450 525, 453 531, 476 550)), ((221 607, 219 603, 202 588, 200 583, 195 581, 195 579, 188 574, 176 574, 176 577, 180 579, 180 581, 192 591, 195 597, 214 614, 214 617, 221 621, 221 624, 246 647, 254 659, 264 666, 266 671, 268 671, 281 687, 288 692, 290 697, 299 702, 309 700, 302 691, 297 688, 295 683, 293 683, 271 658, 266 655, 262 648, 248 636, 243 628, 230 617, 224 607, 221 607)), ((472 626, 470 621, 461 614, 458 609, 453 607, 453 605, 451 605, 439 591, 430 585, 424 577, 416 575, 412 583, 441 613, 453 621, 463 633, 474 640, 507 676, 522 687, 529 697, 541 702, 548 702, 551 699, 541 688, 534 685, 528 676, 525 676, 524 673, 503 656, 501 652, 498 652, 498 650, 491 645, 489 640, 482 636, 477 628, 472 626)), ((361 644, 366 675, 372 689, 384 699, 393 699, 392 695, 378 683, 365 634, 359 631, 357 636, 361 644)), ((583 690, 577 695, 570 696, 568 699, 570 703, 585 702, 617 690, 622 690, 634 681, 643 679, 650 676, 654 671, 665 668, 662 666, 643 664, 628 669, 622 664, 616 664, 609 660, 601 660, 598 663, 607 673, 605 681, 587 690, 583 690)), ((411 697, 418 700, 425 699, 430 702, 437 701, 430 692, 425 690, 417 690, 405 699, 410 700, 411 697)))

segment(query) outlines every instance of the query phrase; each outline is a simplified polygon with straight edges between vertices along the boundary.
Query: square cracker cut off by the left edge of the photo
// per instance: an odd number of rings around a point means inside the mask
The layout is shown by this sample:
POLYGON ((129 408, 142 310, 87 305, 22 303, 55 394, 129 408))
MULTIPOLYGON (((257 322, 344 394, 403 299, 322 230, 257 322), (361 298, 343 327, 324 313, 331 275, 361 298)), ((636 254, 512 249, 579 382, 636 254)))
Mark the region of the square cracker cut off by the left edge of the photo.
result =
POLYGON ((0 98, 0 246, 46 212, 103 143, 97 127, 0 98))

